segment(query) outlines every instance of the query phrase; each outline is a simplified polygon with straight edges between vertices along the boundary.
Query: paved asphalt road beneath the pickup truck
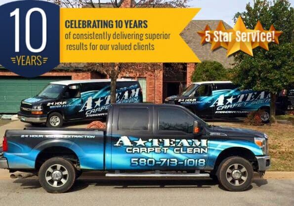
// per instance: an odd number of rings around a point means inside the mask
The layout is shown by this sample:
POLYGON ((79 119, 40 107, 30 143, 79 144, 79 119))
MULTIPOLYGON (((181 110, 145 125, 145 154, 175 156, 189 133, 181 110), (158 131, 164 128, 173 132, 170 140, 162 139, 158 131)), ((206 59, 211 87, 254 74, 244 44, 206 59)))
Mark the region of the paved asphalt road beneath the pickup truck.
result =
POLYGON ((293 206, 294 180, 254 180, 228 192, 212 180, 117 180, 81 177, 64 194, 46 193, 36 178, 0 179, 3 206, 293 206))

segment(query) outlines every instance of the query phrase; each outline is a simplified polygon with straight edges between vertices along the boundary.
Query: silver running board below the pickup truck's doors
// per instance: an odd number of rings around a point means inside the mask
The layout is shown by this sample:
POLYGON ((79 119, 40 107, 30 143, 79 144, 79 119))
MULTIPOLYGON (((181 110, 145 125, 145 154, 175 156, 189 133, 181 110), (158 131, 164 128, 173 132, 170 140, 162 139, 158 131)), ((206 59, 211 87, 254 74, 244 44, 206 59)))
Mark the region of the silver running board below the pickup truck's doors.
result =
POLYGON ((106 177, 210 177, 209 173, 106 173, 106 177))

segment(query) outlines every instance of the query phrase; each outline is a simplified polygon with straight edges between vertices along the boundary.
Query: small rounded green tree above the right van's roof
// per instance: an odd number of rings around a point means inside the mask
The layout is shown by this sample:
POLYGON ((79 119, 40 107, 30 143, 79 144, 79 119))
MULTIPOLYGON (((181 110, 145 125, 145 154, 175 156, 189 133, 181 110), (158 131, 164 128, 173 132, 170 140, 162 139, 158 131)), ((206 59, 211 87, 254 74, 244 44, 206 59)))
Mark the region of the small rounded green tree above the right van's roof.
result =
POLYGON ((228 80, 228 70, 217 61, 203 61, 195 65, 192 82, 228 80))

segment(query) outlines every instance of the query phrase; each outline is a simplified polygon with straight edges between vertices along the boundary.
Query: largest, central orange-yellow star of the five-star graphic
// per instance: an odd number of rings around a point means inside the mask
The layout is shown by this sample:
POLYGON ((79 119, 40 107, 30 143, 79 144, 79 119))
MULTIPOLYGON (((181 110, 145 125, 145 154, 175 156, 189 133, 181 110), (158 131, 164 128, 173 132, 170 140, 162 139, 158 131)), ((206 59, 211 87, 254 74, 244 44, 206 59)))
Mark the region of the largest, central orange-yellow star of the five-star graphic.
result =
POLYGON ((247 38, 247 41, 237 41, 237 35, 236 35, 237 31, 240 31, 241 33, 256 32, 254 30, 246 28, 241 16, 238 17, 234 28, 227 31, 232 33, 232 39, 228 45, 227 56, 239 50, 244 51, 245 53, 253 56, 252 45, 251 45, 252 38, 247 38))

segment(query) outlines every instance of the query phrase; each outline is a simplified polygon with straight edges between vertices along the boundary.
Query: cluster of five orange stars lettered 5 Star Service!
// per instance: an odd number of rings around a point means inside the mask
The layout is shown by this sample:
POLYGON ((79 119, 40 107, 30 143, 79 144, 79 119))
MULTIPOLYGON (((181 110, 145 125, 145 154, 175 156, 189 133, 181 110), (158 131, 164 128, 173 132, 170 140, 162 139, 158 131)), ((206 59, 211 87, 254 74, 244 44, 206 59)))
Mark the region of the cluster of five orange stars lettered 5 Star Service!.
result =
POLYGON ((225 29, 222 21, 219 22, 215 30, 210 30, 206 25, 204 31, 197 32, 201 37, 201 44, 211 43, 211 50, 223 47, 227 49, 227 56, 243 51, 253 56, 252 49, 261 47, 269 50, 268 43, 279 43, 279 36, 282 34, 276 31, 271 25, 268 31, 264 30, 260 21, 256 23, 254 30, 247 29, 241 16, 238 17, 233 29, 225 29))

